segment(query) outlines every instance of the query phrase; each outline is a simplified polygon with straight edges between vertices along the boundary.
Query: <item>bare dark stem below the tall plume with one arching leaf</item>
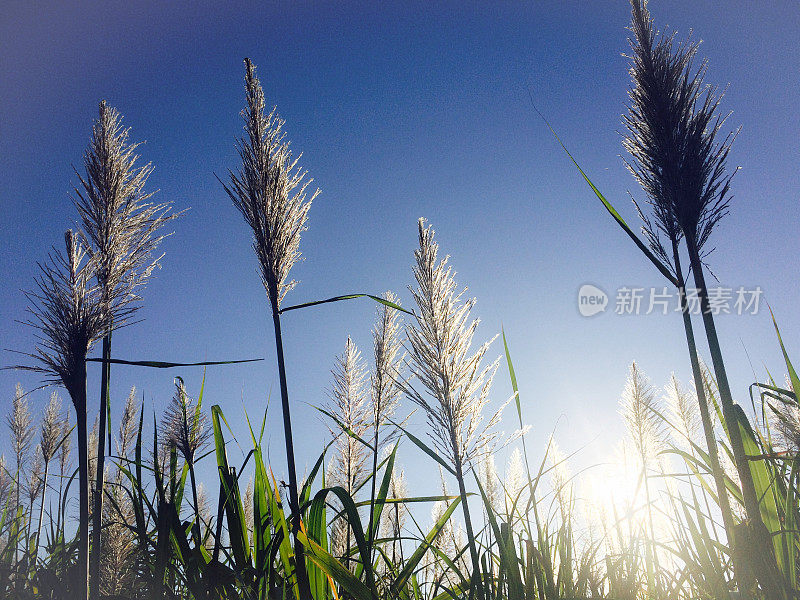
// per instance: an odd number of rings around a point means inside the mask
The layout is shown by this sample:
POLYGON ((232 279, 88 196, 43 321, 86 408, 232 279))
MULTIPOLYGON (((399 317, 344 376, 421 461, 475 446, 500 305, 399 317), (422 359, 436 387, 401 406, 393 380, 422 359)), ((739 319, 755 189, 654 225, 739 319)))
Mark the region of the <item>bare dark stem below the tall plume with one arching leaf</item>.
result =
MULTIPOLYGON (((270 298, 277 298, 277 293, 270 294, 270 298)), ((272 302, 272 323, 275 329, 275 350, 278 355, 278 376, 281 385, 281 407, 283 408, 283 434, 286 441, 286 466, 289 471, 289 503, 294 515, 292 535, 294 536, 295 572, 297 586, 300 590, 301 600, 311 600, 311 586, 306 573, 306 561, 303 545, 297 533, 300 529, 300 501, 297 497, 297 471, 294 462, 294 442, 292 438, 292 418, 289 412, 289 388, 286 384, 286 365, 283 358, 283 337, 281 335, 281 317, 276 301, 272 302)))

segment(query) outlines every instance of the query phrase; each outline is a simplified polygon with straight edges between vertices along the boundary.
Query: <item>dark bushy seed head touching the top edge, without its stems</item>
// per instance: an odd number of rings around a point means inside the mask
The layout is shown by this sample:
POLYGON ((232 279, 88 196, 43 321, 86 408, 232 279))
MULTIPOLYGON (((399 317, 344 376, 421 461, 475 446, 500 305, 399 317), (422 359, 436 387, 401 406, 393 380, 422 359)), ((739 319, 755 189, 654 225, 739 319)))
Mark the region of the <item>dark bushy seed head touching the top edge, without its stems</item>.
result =
POLYGON ((660 233, 671 242, 685 235, 700 250, 727 214, 733 176, 725 174, 725 165, 736 136, 717 139, 725 121, 718 113, 722 94, 704 84, 705 61, 694 68, 699 44, 675 45, 674 35, 657 35, 647 3, 631 5, 633 86, 623 145, 632 158, 628 169, 653 210, 653 221, 644 218, 645 234, 671 264, 660 233))

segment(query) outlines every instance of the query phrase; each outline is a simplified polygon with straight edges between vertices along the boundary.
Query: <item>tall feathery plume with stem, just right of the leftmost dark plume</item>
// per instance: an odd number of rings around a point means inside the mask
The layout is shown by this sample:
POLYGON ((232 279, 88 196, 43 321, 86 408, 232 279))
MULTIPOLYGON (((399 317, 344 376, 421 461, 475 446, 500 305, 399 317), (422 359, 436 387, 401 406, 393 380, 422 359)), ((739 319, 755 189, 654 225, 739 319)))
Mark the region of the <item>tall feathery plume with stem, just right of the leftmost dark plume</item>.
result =
MULTIPOLYGON (((75 170, 79 185, 73 188, 73 203, 78 210, 86 250, 96 261, 95 278, 103 311, 103 358, 111 358, 111 331, 129 322, 139 308, 139 291, 161 256, 153 253, 165 237, 159 230, 177 215, 169 214, 171 203, 148 202, 152 193, 144 191, 153 171, 150 163, 137 165, 139 144, 129 142, 130 129, 123 128, 119 112, 100 102, 99 115, 92 124, 92 139, 84 152, 85 174, 75 170), (113 307, 113 309, 112 309, 113 307)), ((163 255, 162 255, 163 256, 163 255)), ((103 363, 100 390, 100 439, 97 474, 105 473, 106 413, 111 365, 103 363)), ((111 451, 109 431, 108 451, 111 451)), ((94 498, 93 547, 100 547, 100 519, 103 482, 97 481, 94 498)), ((92 556, 92 578, 97 578, 100 556, 92 556)), ((98 588, 91 590, 97 598, 98 588)))

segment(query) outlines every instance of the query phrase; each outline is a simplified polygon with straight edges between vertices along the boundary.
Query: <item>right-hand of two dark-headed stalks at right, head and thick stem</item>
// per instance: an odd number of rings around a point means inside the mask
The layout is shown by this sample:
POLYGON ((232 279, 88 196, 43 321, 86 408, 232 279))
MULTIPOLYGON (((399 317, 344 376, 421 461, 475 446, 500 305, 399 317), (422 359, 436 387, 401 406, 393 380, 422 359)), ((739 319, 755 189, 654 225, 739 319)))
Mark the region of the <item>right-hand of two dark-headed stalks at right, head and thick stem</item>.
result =
MULTIPOLYGON (((634 156, 642 164, 639 170, 651 196, 664 195, 663 210, 670 223, 683 234, 700 297, 703 325, 717 377, 722 411, 725 416, 731 450, 742 484, 742 498, 747 511, 750 534, 747 536, 761 548, 765 560, 757 560, 758 579, 765 591, 777 594, 775 573, 769 567, 772 555, 766 527, 761 519, 759 499, 755 491, 750 465, 744 451, 739 418, 728 384, 714 317, 708 301, 703 256, 704 248, 716 224, 727 214, 730 184, 733 175, 726 175, 726 162, 735 138, 729 134, 721 140, 717 135, 725 118, 718 113, 721 96, 704 85, 706 63, 694 69, 697 44, 686 44, 672 52, 671 38, 653 44, 652 22, 646 5, 633 0, 633 27, 639 50, 642 83, 639 102, 642 114, 634 118, 646 122, 631 144, 634 156), (660 70, 659 70, 660 69, 660 70), (649 79, 648 79, 649 75, 649 79), (649 88, 647 84, 652 84, 649 88), (660 85, 659 85, 660 84, 660 85), (644 113, 644 111, 650 111, 644 113)), ((636 73, 636 69, 634 69, 636 73)), ((635 98, 635 96, 634 96, 635 98)), ((676 242, 673 238, 673 248, 676 242)), ((677 256, 677 251, 674 252, 677 256)), ((690 344, 691 345, 691 344, 690 344)), ((694 368, 694 365, 693 365, 694 368)), ((725 494, 722 494, 724 496, 725 494)), ((722 501, 724 502, 724 501, 722 501)), ((727 518, 727 517, 726 517, 727 518)), ((730 522, 727 523, 730 526, 730 522)), ((729 530, 728 534, 732 532, 729 530)), ((735 542, 735 535, 731 539, 735 542)), ((738 554, 738 551, 736 552, 738 554)), ((741 561, 740 561, 741 562, 741 561)), ((742 567, 746 568, 746 567, 742 567)), ((741 570, 741 569, 740 569, 741 570)), ((745 586, 747 582, 744 583, 745 586)), ((775 596, 778 597, 778 596, 775 596)))

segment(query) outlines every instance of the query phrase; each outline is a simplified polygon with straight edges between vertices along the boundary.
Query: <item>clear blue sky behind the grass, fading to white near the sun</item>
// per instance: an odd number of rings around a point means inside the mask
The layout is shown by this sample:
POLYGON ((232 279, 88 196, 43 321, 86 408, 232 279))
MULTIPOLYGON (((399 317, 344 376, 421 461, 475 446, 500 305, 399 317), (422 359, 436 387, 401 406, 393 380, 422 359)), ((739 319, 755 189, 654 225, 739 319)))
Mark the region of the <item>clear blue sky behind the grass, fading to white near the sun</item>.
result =
MULTIPOLYGON (((730 158, 731 214, 710 263, 730 286, 760 285, 800 357, 797 313, 797 140, 800 9, 783 2, 651 3, 660 27, 703 40, 707 81, 729 85, 723 108, 742 132, 730 158)), ((548 116, 597 185, 631 221, 620 114, 629 83, 626 2, 537 3, 13 3, 0 16, 0 347, 27 351, 21 290, 76 215, 68 200, 97 103, 125 116, 151 189, 176 209, 163 269, 145 292, 143 323, 120 331, 129 359, 265 362, 209 370, 206 402, 243 424, 277 394, 269 312, 250 234, 214 177, 237 164, 242 59, 258 66, 267 101, 322 189, 302 241, 290 303, 348 292, 398 292, 410 302, 416 221, 430 220, 458 280, 477 296, 478 337, 505 326, 534 447, 554 428, 591 461, 621 432, 617 399, 636 359, 658 386, 689 365, 677 315, 582 318, 578 287, 662 285, 579 179, 529 100, 548 116), (594 441, 592 441, 594 440, 594 441)), ((374 307, 352 301, 286 315, 299 469, 327 435, 303 403, 325 402, 329 369, 351 334, 369 354, 374 307), (307 441, 307 443, 305 443, 307 441)), ((699 324, 698 324, 699 325, 699 324)), ((718 328, 734 391, 747 398, 764 366, 783 366, 768 313, 725 316, 718 328)), ((701 338, 700 347, 705 349, 701 338)), ((495 345, 495 355, 501 346, 495 345)), ((796 360, 800 361, 800 358, 796 360)), ((3 364, 15 357, 5 353, 3 364)), ((501 367, 494 396, 510 394, 501 367)), ((173 375, 113 371, 113 400, 131 385, 161 413, 173 375)), ((96 368, 90 394, 96 397, 96 368)), ((36 376, 0 371, 0 406, 36 376)), ((65 394, 63 394, 65 395, 65 394)), ((44 406, 45 391, 32 397, 44 406)), ((283 470, 278 404, 268 433, 283 470)), ((512 428, 507 421, 506 428, 512 428)), ((241 431, 241 430, 240 430, 241 431)), ((0 435, 5 440, 6 432, 0 435)), ((5 446, 5 442, 0 442, 5 446)), ((235 457, 234 457, 235 458, 235 457)), ((435 491, 411 447, 416 491, 435 491)))

